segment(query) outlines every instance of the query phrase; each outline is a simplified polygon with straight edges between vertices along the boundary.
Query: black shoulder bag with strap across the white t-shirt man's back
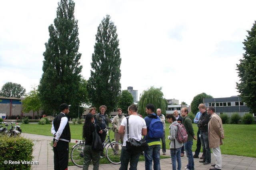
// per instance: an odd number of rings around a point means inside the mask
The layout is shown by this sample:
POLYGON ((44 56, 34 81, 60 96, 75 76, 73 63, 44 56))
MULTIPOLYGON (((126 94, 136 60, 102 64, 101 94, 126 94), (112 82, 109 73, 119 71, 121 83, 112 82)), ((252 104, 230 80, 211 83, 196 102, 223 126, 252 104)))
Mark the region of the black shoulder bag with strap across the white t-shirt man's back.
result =
POLYGON ((140 141, 136 141, 134 138, 129 138, 129 116, 126 117, 127 119, 127 138, 125 150, 128 152, 135 152, 135 153, 141 153, 145 149, 148 148, 148 143, 145 139, 141 139, 140 141))

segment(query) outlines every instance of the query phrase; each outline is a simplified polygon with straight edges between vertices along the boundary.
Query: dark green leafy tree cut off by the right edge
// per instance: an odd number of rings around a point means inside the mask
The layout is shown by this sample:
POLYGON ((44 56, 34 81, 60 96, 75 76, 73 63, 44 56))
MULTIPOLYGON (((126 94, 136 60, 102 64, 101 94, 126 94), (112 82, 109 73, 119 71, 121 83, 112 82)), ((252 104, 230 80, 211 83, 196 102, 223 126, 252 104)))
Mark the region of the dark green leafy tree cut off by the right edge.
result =
POLYGON ((240 93, 242 101, 250 107, 252 113, 256 113, 256 21, 251 31, 247 31, 247 39, 244 39, 243 59, 240 64, 236 64, 240 82, 236 83, 236 88, 240 93))

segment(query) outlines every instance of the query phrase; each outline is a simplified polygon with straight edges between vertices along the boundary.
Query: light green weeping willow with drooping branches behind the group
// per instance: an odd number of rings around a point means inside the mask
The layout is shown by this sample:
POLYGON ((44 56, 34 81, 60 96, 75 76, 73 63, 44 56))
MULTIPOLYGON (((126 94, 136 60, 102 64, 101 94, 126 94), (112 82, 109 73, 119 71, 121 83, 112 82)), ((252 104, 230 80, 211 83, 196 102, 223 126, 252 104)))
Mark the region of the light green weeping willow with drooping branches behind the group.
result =
POLYGON ((144 90, 142 94, 140 94, 140 101, 138 102, 138 113, 146 116, 146 105, 150 103, 155 106, 155 113, 156 109, 160 108, 162 110, 162 114, 166 114, 166 102, 162 92, 162 87, 154 88, 154 86, 151 86, 147 90, 144 90))

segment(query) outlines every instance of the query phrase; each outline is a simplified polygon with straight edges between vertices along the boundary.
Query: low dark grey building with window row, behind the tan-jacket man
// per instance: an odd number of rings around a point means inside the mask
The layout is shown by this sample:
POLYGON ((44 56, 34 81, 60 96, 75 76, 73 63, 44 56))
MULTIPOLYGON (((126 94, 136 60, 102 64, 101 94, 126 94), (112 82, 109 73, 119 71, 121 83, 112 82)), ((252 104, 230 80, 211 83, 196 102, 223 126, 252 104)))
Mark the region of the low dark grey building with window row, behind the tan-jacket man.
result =
POLYGON ((215 107, 216 114, 227 114, 231 116, 234 113, 238 113, 243 116, 249 113, 250 108, 246 106, 246 103, 242 102, 242 98, 238 96, 231 96, 230 98, 212 98, 204 99, 204 105, 206 107, 215 107))

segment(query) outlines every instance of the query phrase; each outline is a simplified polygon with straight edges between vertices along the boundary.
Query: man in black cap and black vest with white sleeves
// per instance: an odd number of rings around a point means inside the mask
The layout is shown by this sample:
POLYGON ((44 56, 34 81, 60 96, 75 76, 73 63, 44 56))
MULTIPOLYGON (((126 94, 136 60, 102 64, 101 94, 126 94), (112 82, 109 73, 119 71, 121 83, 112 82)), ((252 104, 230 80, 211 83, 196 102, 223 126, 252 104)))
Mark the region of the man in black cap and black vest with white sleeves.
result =
POLYGON ((61 112, 52 121, 51 133, 54 135, 54 170, 68 169, 68 143, 70 142, 70 128, 68 124, 69 105, 60 105, 61 112))

